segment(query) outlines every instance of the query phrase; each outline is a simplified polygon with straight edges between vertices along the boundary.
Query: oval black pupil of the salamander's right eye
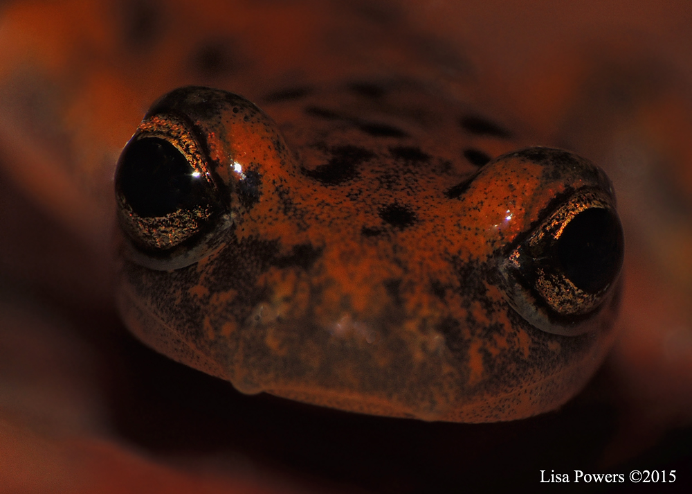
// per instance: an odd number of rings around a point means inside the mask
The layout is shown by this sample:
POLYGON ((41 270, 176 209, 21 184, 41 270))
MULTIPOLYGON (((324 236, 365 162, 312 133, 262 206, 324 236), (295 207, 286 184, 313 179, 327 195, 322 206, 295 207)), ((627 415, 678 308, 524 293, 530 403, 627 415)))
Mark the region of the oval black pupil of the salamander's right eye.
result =
POLYGON ((558 238, 557 254, 567 279, 590 294, 614 281, 623 260, 623 233, 617 215, 591 208, 570 221, 558 238))

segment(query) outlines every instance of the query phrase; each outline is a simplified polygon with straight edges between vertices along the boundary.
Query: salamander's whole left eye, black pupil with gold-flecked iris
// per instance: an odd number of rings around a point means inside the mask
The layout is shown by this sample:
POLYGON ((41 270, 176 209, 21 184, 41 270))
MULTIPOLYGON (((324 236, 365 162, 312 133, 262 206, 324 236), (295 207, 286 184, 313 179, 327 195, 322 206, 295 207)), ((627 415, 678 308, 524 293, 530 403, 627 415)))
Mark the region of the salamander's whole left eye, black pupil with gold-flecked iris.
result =
POLYGON ((148 118, 125 146, 116 198, 128 257, 152 269, 199 260, 214 227, 229 221, 197 139, 170 116, 148 118))

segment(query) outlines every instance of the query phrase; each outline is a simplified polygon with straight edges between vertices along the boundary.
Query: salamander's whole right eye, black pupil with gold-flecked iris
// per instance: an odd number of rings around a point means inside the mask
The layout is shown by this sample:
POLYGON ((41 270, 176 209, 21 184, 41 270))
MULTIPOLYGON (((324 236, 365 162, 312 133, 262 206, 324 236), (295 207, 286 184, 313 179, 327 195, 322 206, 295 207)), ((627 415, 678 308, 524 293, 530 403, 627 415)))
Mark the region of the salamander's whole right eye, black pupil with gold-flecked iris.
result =
POLYGON ((579 191, 509 253, 500 271, 507 300, 537 328, 559 335, 591 329, 619 278, 623 232, 610 196, 579 191))

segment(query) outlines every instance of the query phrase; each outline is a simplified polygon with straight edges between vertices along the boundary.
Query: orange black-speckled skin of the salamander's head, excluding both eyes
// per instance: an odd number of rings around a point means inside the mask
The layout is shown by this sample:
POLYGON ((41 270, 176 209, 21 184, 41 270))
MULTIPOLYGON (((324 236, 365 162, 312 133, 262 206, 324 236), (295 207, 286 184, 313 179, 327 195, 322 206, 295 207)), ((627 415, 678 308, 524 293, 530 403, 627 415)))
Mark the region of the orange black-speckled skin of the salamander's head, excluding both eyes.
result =
POLYGON ((155 103, 147 118, 188 122, 233 224, 187 267, 125 261, 127 325, 248 393, 465 422, 561 405, 610 346, 618 297, 586 334, 544 333, 509 306, 498 267, 561 197, 612 195, 610 181, 547 148, 479 168, 464 152, 521 145, 465 129, 471 110, 406 80, 367 87, 269 95, 266 114, 200 87, 155 103))

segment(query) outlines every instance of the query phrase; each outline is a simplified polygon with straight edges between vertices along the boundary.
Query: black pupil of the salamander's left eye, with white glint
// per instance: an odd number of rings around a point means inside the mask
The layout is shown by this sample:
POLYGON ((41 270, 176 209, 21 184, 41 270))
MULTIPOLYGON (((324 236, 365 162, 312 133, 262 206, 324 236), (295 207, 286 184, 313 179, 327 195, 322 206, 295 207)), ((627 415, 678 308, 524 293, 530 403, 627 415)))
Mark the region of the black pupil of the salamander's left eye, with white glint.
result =
POLYGON ((208 202, 206 182, 165 139, 131 142, 120 158, 116 191, 143 218, 163 217, 208 202))

